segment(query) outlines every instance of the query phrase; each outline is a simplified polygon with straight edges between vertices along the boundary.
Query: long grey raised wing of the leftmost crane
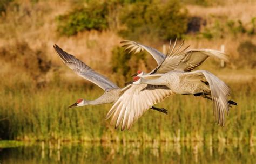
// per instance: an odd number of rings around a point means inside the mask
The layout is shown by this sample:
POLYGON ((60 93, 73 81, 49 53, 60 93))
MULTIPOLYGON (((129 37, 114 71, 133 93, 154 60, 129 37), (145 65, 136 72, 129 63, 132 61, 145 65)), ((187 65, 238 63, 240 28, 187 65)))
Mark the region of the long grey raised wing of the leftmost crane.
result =
POLYGON ((62 59, 62 61, 79 76, 83 77, 86 80, 89 80, 92 83, 95 83, 103 90, 109 88, 119 88, 116 84, 111 82, 105 76, 95 72, 95 70, 91 69, 89 66, 77 59, 75 56, 63 51, 58 45, 53 45, 53 48, 57 52, 59 58, 62 59))

